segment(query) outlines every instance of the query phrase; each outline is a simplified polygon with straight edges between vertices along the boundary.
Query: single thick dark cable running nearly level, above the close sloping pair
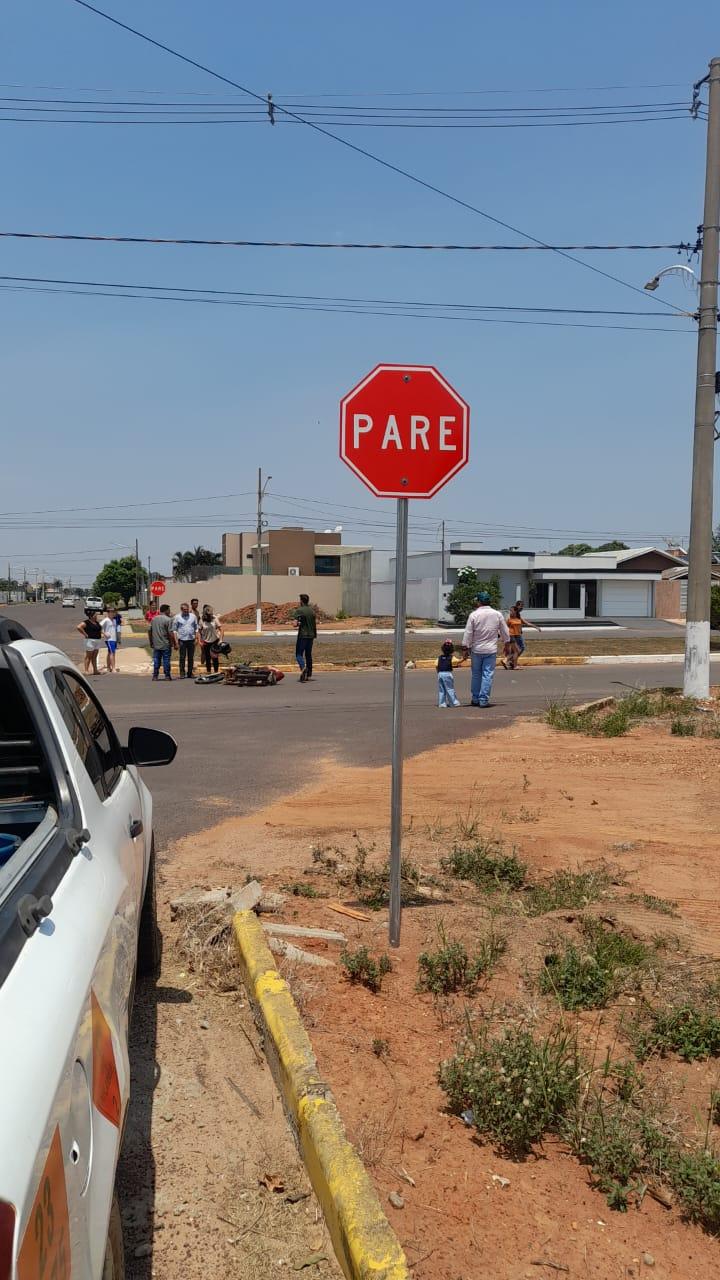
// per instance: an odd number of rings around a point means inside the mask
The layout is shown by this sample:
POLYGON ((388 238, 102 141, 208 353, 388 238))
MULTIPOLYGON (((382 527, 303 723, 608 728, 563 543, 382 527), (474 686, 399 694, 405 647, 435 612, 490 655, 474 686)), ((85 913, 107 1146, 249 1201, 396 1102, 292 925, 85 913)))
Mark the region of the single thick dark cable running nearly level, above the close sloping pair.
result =
POLYGON ((250 241, 250 239, 200 239, 161 236, 86 236, 77 232, 3 232, 0 239, 49 239, 49 241, 81 241, 101 244, 181 244, 201 246, 215 248, 372 248, 372 250, 456 250, 461 252, 560 252, 564 250, 583 250, 593 252, 626 251, 626 250, 675 250, 678 253, 697 252, 697 243, 667 244, 421 244, 421 243, 377 243, 377 242, 340 242, 340 241, 250 241))

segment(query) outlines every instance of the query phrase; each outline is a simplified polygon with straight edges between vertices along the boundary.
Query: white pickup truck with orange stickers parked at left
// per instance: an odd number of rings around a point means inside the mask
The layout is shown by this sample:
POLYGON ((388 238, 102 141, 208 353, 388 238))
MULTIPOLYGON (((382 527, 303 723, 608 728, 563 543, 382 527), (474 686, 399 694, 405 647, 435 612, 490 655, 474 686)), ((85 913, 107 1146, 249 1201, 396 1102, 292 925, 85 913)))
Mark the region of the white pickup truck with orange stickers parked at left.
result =
POLYGON ((59 649, 0 620, 0 1280, 123 1280, 115 1166, 136 973, 156 972, 159 730, 118 736, 59 649))

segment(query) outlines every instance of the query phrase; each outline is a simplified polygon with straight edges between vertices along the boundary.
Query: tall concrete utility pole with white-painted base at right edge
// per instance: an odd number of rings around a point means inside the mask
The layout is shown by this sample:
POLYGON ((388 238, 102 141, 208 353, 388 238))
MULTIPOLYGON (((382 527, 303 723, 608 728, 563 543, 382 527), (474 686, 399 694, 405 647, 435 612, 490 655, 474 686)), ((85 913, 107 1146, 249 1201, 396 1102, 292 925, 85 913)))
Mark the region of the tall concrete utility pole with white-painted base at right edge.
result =
POLYGON ((717 266, 720 223, 720 58, 710 63, 705 210, 700 266, 697 380, 688 609, 685 618, 685 698, 710 695, 710 589, 712 558, 712 467, 715 453, 715 366, 717 361, 717 266))

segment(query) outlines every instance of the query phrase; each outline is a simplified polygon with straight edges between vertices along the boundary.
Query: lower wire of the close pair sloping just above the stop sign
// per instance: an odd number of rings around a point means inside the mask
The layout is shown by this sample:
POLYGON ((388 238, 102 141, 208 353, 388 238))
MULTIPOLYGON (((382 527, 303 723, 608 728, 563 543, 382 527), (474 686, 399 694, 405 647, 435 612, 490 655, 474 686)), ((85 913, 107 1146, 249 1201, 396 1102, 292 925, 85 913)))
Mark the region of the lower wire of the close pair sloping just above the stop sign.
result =
MULTIPOLYGON (((465 315, 445 315, 443 312, 428 314, 423 311, 398 311, 398 310, 379 310, 373 307, 343 307, 343 306, 316 306, 304 302, 260 302, 250 298, 210 298, 210 297, 181 297, 178 294, 165 294, 165 293, 129 293, 127 291, 108 291, 108 289, 87 289, 87 288, 64 288, 64 287, 51 287, 51 285, 32 285, 32 284, 0 284, 0 289, 5 292, 14 293, 60 293, 60 294, 74 294, 85 298, 129 298, 140 302, 181 302, 181 303, 196 303, 201 306, 217 306, 217 307, 259 307, 270 311, 304 311, 304 312, 323 312, 329 315, 357 315, 357 316, 386 316, 405 320, 451 320, 459 324, 503 324, 503 325, 539 325, 551 329, 609 329, 609 330, 626 330, 632 333, 691 333, 692 330, 683 329, 670 329, 665 325, 633 325, 633 324, 596 324, 594 321, 575 321, 575 320, 519 320, 507 319, 501 316, 465 316, 465 315)), ((659 312, 650 312, 650 315, 657 315, 659 312)), ((665 312, 662 312, 665 316, 665 312)), ((688 312, 680 311, 679 307, 674 308, 674 315, 671 317, 665 316, 665 319, 687 319, 688 312)))

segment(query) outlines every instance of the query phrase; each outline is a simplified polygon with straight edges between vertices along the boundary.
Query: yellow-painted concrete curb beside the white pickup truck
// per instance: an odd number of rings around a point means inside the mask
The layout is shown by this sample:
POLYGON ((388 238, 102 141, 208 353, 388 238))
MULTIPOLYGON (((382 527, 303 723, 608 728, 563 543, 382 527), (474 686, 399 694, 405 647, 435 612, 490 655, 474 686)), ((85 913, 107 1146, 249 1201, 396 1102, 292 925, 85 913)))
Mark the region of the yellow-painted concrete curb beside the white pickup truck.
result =
POLYGON ((343 1274, 347 1280, 409 1280, 400 1242, 347 1140, 295 1001, 268 950, 263 925, 254 911, 238 911, 233 929, 265 1056, 343 1274))

